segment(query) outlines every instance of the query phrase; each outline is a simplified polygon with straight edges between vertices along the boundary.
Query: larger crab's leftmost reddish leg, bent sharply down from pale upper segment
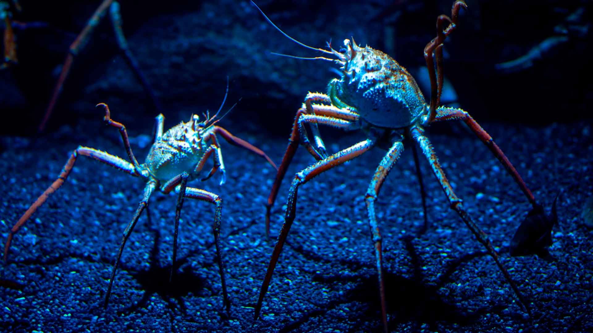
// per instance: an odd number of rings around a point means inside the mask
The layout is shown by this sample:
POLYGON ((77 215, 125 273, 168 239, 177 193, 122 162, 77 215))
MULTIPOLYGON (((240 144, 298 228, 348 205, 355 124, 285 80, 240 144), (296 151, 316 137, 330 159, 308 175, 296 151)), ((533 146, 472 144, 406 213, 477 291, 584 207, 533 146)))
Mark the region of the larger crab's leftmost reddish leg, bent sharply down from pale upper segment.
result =
MULTIPOLYGON (((329 97, 327 97, 327 98, 329 98, 329 97)), ((339 120, 356 121, 356 120, 358 120, 358 117, 359 117, 357 113, 354 113, 352 111, 345 110, 345 109, 340 109, 340 108, 334 107, 333 105, 314 104, 314 105, 312 105, 312 107, 315 109, 315 115, 327 116, 327 118, 333 117, 336 119, 336 121, 339 121, 339 120)), ((297 152, 299 142, 305 141, 304 138, 307 137, 306 133, 304 133, 305 131, 301 132, 301 130, 299 130, 299 127, 300 127, 299 120, 301 119, 301 116, 305 116, 305 114, 307 114, 307 111, 304 108, 300 108, 297 111, 297 116, 295 116, 295 121, 292 126, 291 137, 289 137, 289 139, 288 139, 288 146, 286 147, 286 152, 284 153, 284 156, 282 157, 282 162, 280 162, 280 167, 278 168, 278 172, 276 173, 276 179, 274 180, 274 184, 272 185, 272 190, 270 191, 270 195, 267 197, 266 238, 269 237, 269 235, 270 235, 270 210, 272 209, 274 201, 276 201, 276 196, 278 196, 278 190, 280 188, 280 184, 282 183, 282 180, 284 179, 284 176, 286 175, 286 169, 288 169, 288 166, 292 162, 292 158, 294 157, 295 153, 297 152), (303 138, 303 139, 301 140, 301 138, 303 138)), ((348 126, 348 128, 350 128, 351 126, 353 126, 353 123, 350 123, 350 126, 348 126)), ((306 142, 308 143, 308 139, 306 140, 306 142)), ((307 148, 307 147, 308 146, 305 145, 305 148, 307 148)), ((321 156, 317 155, 317 153, 313 149, 307 149, 307 151, 310 152, 311 155, 313 155, 313 157, 315 159, 317 159, 318 161, 320 161, 322 159, 321 156)))

